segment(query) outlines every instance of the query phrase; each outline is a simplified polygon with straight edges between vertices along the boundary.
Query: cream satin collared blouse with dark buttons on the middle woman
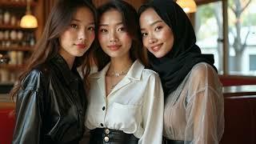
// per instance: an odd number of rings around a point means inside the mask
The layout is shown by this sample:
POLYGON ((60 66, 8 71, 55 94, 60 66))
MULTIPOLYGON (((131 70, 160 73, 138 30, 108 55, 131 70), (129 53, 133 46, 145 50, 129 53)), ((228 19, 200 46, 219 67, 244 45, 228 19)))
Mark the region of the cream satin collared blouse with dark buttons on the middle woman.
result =
POLYGON ((139 144, 162 144, 163 92, 158 74, 137 60, 106 97, 105 76, 110 64, 90 75, 86 127, 107 127, 134 134, 139 144))

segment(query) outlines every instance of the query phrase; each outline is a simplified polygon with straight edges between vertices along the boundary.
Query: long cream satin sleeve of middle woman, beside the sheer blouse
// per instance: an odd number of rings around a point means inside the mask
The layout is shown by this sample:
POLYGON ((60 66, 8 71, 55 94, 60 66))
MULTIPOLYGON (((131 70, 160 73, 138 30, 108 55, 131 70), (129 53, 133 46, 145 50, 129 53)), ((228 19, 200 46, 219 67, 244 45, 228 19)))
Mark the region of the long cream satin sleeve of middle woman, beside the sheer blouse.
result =
POLYGON ((163 91, 157 74, 150 76, 142 110, 144 133, 138 144, 162 144, 163 91))

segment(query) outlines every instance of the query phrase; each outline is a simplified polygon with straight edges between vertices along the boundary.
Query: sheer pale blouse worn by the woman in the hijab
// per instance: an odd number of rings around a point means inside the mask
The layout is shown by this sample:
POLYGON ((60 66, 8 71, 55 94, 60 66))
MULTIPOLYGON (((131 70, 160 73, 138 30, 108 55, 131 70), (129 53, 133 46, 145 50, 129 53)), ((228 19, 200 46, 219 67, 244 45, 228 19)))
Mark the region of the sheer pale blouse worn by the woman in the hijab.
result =
POLYGON ((163 135, 185 144, 215 144, 224 132, 224 99, 216 71, 195 65, 165 102, 163 135))

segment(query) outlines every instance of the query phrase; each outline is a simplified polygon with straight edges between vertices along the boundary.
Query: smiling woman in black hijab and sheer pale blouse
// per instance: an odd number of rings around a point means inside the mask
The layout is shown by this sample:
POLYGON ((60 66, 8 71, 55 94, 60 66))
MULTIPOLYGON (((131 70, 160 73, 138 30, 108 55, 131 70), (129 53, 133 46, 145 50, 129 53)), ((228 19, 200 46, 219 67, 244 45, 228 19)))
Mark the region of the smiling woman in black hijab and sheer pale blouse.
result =
POLYGON ((143 45, 165 93, 163 143, 218 143, 224 102, 213 55, 201 54, 190 20, 175 2, 149 2, 138 13, 143 45))

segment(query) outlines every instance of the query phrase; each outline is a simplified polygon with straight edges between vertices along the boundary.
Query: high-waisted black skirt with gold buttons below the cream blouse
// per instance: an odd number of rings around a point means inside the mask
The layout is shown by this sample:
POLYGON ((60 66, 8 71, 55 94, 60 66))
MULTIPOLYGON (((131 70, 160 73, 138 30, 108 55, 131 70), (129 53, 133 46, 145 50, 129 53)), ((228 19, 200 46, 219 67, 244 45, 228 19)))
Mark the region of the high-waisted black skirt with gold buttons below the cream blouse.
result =
POLYGON ((90 144, 138 144, 138 138, 122 130, 97 128, 90 130, 90 144))

